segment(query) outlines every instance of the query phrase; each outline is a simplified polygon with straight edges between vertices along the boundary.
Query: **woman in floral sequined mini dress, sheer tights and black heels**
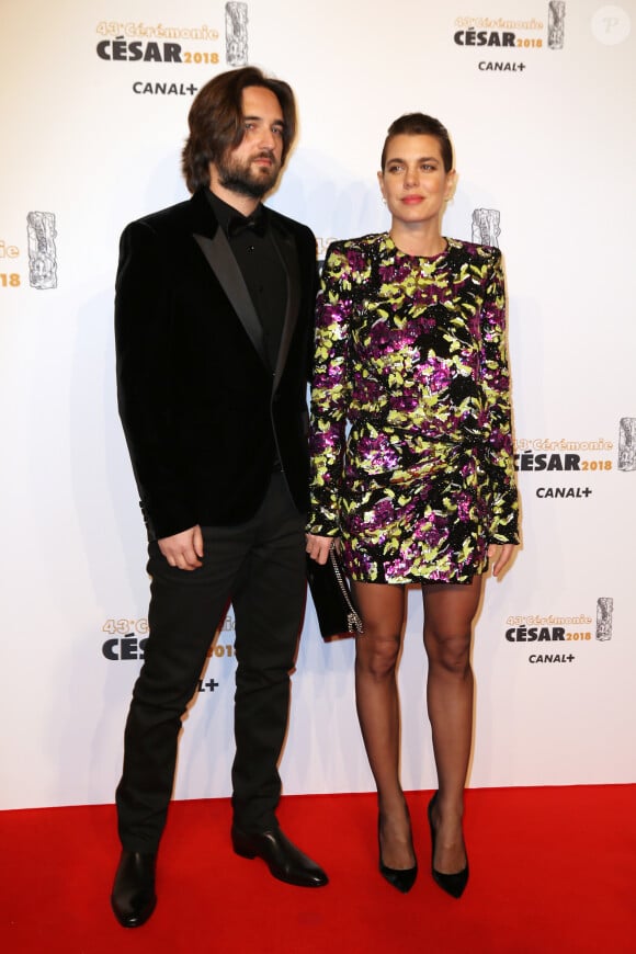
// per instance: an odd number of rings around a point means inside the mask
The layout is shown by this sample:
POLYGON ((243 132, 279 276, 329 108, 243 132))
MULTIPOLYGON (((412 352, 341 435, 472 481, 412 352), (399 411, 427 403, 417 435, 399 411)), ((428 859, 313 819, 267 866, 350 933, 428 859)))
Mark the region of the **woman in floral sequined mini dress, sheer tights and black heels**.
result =
POLYGON ((488 561, 518 543, 500 252, 441 234, 455 184, 444 126, 411 113, 388 130, 387 234, 333 243, 318 298, 307 552, 341 546, 364 624, 355 691, 378 792, 379 871, 417 875, 399 766, 396 662, 405 587, 421 586, 438 770, 432 873, 459 897, 473 730, 472 625, 488 561), (345 435, 347 423, 351 429, 345 435))

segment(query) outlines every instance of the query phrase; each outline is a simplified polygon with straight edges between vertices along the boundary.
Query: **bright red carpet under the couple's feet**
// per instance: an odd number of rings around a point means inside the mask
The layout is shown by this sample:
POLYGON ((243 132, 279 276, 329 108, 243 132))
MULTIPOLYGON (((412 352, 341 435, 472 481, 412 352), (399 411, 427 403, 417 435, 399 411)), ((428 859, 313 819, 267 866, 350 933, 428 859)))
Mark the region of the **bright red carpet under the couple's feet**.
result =
POLYGON ((404 896, 377 873, 373 795, 283 799, 285 831, 331 879, 309 890, 232 854, 227 799, 174 803, 157 910, 136 930, 121 928, 109 905, 112 806, 0 813, 0 950, 636 952, 636 785, 468 791, 470 881, 458 901, 429 874, 429 795, 407 796, 420 873, 404 896))

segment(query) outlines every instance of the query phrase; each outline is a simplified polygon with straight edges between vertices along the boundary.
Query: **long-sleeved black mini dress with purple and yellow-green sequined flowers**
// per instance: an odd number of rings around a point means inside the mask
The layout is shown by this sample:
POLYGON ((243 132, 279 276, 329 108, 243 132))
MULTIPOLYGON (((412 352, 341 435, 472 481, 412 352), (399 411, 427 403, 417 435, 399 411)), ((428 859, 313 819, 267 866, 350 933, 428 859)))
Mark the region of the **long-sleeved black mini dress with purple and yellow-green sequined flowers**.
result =
POLYGON ((311 533, 354 580, 469 582, 518 543, 498 249, 330 246, 311 389, 311 533))

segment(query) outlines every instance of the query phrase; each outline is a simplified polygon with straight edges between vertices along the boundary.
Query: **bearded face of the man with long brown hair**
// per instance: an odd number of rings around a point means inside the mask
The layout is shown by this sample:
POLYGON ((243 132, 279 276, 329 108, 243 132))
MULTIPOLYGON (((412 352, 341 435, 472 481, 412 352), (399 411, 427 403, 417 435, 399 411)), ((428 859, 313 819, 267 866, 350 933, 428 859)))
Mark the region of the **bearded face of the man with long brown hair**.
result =
POLYGON ((262 198, 274 188, 283 160, 283 111, 264 87, 242 92, 245 134, 236 149, 211 164, 211 186, 220 185, 250 198, 262 198))

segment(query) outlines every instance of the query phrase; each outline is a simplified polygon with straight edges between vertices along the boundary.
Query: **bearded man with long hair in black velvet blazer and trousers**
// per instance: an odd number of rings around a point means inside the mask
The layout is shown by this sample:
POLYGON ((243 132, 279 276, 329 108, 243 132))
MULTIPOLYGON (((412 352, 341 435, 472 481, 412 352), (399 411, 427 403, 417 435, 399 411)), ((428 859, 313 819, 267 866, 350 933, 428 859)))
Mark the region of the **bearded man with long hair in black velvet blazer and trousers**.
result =
POLYGON ((116 794, 111 900, 127 928, 155 908, 181 717, 230 601, 234 850, 289 884, 327 884, 274 814, 305 599, 316 240, 261 198, 294 138, 294 95, 259 69, 231 70, 203 87, 189 123, 192 198, 127 226, 116 282, 120 413, 151 576, 116 794))

